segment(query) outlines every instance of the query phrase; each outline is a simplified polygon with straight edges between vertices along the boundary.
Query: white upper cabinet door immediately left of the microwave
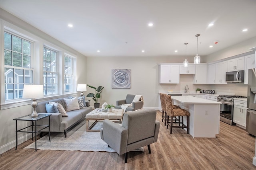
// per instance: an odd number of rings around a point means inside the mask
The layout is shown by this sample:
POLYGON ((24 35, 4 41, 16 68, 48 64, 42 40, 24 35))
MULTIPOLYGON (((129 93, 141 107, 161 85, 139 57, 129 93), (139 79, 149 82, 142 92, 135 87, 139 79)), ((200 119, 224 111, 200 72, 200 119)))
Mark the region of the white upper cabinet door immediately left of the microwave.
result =
POLYGON ((223 61, 216 63, 216 74, 215 83, 216 84, 227 84, 226 83, 226 72, 228 71, 228 61, 223 61))

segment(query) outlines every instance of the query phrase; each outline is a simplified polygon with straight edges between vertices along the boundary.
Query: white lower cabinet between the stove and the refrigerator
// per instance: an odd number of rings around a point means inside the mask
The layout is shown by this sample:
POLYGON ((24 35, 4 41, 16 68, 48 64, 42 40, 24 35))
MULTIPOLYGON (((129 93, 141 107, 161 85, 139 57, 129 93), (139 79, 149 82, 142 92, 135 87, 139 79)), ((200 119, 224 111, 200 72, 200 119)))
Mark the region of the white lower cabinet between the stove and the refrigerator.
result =
POLYGON ((246 101, 234 99, 233 122, 246 127, 246 101))

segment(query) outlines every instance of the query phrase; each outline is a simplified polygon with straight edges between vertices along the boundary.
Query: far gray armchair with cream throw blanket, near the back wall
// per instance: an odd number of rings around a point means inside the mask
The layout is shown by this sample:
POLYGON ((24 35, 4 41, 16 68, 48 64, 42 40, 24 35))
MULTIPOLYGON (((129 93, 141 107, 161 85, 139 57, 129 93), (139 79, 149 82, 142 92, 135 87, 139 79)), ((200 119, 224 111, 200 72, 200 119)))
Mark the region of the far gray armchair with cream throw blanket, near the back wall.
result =
POLYGON ((126 99, 116 101, 115 108, 121 109, 122 104, 132 104, 132 106, 129 106, 126 108, 126 111, 135 111, 138 109, 142 109, 144 102, 143 101, 132 102, 134 97, 135 97, 134 94, 127 94, 126 99))

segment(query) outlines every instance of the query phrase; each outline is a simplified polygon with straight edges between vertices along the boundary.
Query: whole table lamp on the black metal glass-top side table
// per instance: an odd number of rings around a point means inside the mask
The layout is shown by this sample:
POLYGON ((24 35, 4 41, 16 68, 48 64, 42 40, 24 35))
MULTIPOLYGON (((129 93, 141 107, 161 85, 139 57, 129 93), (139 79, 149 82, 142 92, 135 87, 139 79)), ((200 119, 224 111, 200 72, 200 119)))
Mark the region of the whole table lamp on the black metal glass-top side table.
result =
POLYGON ((36 106, 38 98, 44 97, 44 87, 43 85, 35 85, 35 84, 24 84, 23 88, 23 98, 30 98, 33 102, 31 106, 33 107, 33 113, 30 117, 38 117, 36 112, 36 106))

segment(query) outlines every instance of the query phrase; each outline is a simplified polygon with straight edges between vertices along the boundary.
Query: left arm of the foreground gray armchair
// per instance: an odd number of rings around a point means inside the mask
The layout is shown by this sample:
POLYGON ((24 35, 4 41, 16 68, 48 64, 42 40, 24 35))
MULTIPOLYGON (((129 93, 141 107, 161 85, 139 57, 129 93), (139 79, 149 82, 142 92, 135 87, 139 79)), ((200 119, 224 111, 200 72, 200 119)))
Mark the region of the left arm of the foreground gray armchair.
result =
POLYGON ((105 119, 103 128, 100 129, 100 137, 119 155, 126 153, 128 130, 124 127, 105 119))

